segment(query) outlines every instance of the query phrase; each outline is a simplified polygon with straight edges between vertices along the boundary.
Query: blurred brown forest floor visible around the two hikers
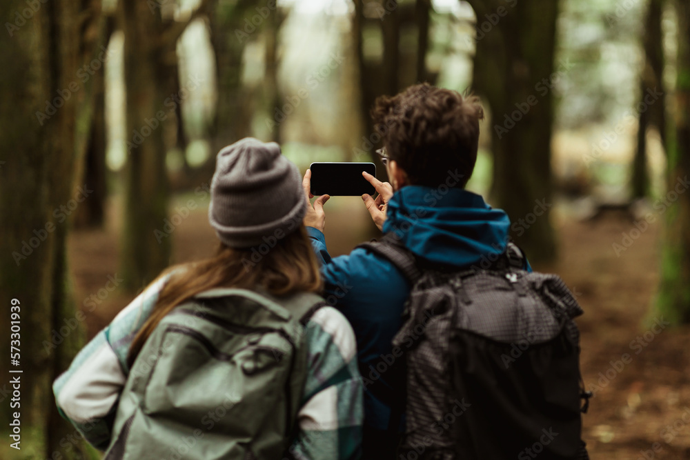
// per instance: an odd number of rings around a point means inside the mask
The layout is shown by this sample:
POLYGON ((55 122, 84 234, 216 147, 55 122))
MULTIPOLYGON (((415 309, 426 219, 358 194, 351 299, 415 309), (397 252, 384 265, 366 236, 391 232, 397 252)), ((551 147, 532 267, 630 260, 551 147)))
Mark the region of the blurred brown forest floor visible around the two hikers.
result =
MULTIPOLYGON (((364 239, 363 208, 361 201, 326 206, 326 242, 333 255, 364 239)), ((109 207, 106 230, 70 235, 75 296, 86 302, 89 337, 132 299, 119 289, 106 290, 109 276, 117 280, 118 213, 117 206, 109 207)), ((584 309, 578 319, 582 373, 587 388, 595 390, 583 417, 591 457, 690 459, 690 328, 653 326, 663 319, 649 313, 658 282, 658 223, 619 255, 613 243, 621 244, 634 228, 629 219, 563 218, 556 227, 560 259, 535 270, 560 274, 584 309)), ((203 209, 181 221, 170 238, 175 263, 204 257, 217 244, 203 209)))

